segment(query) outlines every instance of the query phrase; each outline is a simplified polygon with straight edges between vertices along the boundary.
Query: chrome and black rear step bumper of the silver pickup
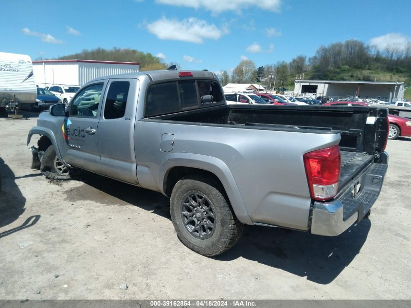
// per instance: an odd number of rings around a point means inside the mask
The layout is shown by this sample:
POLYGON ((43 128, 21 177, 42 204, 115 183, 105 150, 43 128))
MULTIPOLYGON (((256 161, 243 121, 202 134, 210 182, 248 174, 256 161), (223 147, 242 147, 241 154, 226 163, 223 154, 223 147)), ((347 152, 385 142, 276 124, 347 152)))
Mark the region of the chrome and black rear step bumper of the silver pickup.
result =
POLYGON ((382 163, 374 163, 364 173, 351 181, 337 196, 328 202, 314 202, 311 233, 321 236, 338 236, 367 215, 381 191, 388 168, 388 154, 382 163), (360 193, 355 185, 360 183, 360 193))

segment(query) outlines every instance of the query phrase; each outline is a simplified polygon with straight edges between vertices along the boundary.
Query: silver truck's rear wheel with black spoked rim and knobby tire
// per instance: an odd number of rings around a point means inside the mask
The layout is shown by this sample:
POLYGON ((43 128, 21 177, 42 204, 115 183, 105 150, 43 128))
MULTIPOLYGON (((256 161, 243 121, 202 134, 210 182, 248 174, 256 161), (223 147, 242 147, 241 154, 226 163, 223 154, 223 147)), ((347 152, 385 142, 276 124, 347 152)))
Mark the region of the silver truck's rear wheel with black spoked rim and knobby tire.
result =
POLYGON ((171 193, 170 213, 179 240, 205 256, 222 254, 232 248, 244 229, 231 210, 224 188, 208 176, 186 176, 179 180, 171 193), (197 201, 199 207, 184 202, 189 198, 197 201))

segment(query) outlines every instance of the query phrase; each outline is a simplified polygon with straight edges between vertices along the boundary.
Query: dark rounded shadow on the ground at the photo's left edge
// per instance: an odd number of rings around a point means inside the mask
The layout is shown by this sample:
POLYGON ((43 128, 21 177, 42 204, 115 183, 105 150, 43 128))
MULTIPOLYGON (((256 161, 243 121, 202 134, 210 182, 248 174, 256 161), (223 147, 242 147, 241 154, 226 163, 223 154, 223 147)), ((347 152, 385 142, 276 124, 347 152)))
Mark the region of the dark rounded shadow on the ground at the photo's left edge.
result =
POLYGON ((0 228, 17 220, 23 214, 25 204, 26 199, 15 182, 13 171, 0 158, 0 228))

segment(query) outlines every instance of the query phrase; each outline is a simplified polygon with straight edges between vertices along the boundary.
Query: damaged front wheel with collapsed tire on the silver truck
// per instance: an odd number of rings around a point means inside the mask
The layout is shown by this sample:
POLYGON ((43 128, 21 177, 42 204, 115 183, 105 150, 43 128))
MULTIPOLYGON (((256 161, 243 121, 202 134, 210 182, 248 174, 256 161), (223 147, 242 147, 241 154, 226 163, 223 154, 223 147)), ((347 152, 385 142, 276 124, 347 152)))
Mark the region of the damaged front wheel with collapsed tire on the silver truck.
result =
POLYGON ((50 145, 41 157, 40 171, 50 180, 71 179, 71 168, 60 162, 53 145, 50 145))

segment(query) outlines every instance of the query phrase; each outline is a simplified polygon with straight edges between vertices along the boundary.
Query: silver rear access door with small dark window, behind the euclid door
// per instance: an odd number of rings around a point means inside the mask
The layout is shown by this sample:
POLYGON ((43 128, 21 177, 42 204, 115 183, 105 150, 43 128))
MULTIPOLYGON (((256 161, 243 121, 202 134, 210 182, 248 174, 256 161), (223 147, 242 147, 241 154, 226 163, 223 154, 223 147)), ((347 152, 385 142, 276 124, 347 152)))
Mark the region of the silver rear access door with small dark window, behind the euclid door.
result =
POLYGON ((109 80, 97 134, 98 173, 133 184, 138 184, 134 151, 138 89, 137 79, 109 80))

